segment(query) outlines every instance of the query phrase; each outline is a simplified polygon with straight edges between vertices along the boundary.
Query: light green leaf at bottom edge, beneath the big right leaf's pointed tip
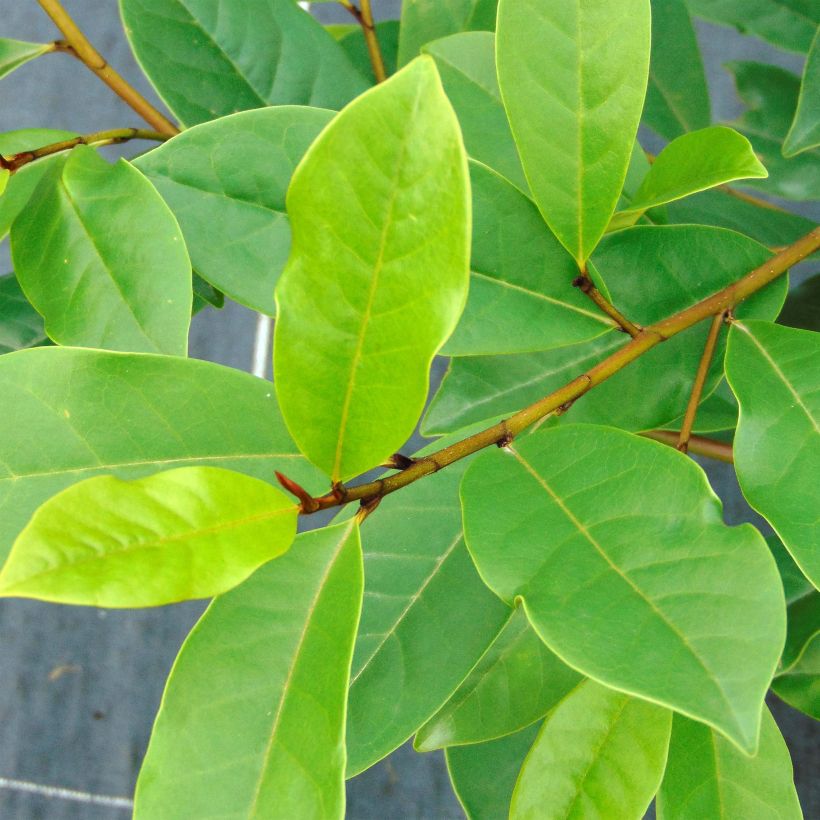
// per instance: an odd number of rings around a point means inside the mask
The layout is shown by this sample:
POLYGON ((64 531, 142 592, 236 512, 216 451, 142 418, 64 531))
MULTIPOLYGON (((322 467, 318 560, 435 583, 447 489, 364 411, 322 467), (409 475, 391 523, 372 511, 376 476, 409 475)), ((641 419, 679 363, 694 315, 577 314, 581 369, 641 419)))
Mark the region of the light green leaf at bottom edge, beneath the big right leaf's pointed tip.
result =
POLYGON ((763 709, 754 757, 739 752, 708 726, 675 715, 656 809, 658 820, 800 820, 789 750, 769 710, 763 709))

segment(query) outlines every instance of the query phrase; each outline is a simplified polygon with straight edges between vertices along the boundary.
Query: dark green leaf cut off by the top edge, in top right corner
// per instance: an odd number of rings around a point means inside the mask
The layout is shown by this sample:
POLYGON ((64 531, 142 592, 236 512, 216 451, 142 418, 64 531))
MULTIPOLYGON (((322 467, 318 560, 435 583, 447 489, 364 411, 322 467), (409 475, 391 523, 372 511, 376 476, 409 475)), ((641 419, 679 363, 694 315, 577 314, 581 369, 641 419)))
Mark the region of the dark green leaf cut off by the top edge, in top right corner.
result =
POLYGON ((687 0, 698 17, 753 34, 786 51, 806 52, 820 12, 814 0, 687 0))

